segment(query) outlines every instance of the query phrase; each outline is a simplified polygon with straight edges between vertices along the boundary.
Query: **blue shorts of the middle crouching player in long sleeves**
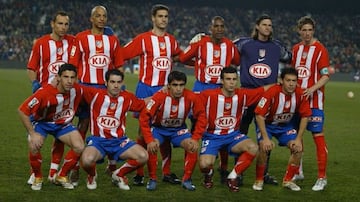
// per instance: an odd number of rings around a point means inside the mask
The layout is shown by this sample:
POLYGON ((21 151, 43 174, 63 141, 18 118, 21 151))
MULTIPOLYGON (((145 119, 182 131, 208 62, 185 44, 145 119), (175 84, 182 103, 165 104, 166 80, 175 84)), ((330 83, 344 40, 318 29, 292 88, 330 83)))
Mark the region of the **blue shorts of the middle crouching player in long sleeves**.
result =
POLYGON ((186 139, 191 138, 191 133, 185 127, 181 128, 165 128, 165 127, 153 127, 153 137, 158 139, 160 144, 165 140, 170 140, 174 147, 180 147, 180 143, 186 139))

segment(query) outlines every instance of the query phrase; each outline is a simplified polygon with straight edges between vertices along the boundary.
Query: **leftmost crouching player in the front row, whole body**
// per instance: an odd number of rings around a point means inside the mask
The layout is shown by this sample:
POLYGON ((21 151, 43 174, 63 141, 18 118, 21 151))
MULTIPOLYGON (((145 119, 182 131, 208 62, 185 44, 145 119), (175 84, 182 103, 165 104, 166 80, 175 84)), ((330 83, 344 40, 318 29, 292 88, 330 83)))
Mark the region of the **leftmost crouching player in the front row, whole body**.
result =
POLYGON ((20 119, 28 132, 29 161, 35 175, 32 190, 42 188, 40 150, 48 134, 72 148, 65 156, 64 164, 55 177, 55 183, 61 184, 65 189, 74 188, 67 175, 76 165, 84 149, 84 141, 71 123, 82 99, 81 88, 74 85, 76 80, 76 68, 70 64, 63 64, 58 70, 56 87, 44 86, 19 107, 20 119))

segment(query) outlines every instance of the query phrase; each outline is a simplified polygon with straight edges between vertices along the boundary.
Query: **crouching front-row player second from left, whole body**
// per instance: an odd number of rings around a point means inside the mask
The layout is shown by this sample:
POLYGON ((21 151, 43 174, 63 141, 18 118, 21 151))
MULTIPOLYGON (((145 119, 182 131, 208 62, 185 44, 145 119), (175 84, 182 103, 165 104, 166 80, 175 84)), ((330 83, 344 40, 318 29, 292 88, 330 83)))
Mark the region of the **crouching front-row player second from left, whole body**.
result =
POLYGON ((88 173, 87 188, 96 189, 96 162, 105 155, 111 156, 114 161, 128 159, 113 172, 112 180, 120 189, 130 190, 126 174, 144 165, 148 154, 142 146, 126 136, 126 114, 128 111, 140 112, 145 102, 121 90, 124 74, 118 69, 107 71, 105 81, 107 90, 83 87, 84 99, 91 105, 91 136, 86 140, 81 165, 88 173))

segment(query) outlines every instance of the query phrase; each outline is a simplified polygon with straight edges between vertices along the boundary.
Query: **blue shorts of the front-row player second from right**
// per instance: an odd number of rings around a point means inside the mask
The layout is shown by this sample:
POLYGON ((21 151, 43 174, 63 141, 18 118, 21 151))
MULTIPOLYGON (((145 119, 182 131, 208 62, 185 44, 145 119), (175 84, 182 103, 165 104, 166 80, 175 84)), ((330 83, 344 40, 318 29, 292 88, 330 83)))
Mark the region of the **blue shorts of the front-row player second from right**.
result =
POLYGON ((202 138, 200 155, 209 154, 216 156, 220 150, 226 149, 232 156, 238 156, 231 152, 231 149, 239 142, 249 139, 245 134, 241 134, 240 131, 234 131, 227 135, 214 135, 205 132, 202 138))

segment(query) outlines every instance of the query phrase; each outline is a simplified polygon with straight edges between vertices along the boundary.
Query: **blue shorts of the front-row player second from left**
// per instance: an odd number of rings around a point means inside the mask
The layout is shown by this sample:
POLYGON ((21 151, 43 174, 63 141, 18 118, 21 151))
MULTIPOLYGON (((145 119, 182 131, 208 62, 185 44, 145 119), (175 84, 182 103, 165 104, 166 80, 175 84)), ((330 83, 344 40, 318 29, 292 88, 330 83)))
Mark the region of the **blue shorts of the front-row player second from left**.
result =
POLYGON ((122 138, 106 139, 103 137, 89 136, 86 138, 87 146, 95 147, 101 153, 101 160, 97 163, 104 162, 105 155, 111 156, 116 161, 121 161, 120 155, 134 146, 136 143, 124 136, 122 138))

